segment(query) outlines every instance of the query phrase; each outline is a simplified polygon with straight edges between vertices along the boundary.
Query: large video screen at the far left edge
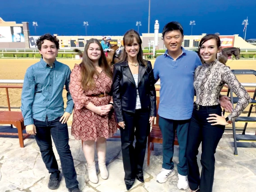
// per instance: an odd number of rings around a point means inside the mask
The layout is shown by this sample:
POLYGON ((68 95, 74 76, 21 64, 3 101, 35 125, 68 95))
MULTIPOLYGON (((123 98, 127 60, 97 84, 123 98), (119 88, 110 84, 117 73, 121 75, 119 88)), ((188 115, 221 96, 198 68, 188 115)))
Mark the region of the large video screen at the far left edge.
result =
POLYGON ((23 27, 0 27, 0 42, 24 42, 23 27))

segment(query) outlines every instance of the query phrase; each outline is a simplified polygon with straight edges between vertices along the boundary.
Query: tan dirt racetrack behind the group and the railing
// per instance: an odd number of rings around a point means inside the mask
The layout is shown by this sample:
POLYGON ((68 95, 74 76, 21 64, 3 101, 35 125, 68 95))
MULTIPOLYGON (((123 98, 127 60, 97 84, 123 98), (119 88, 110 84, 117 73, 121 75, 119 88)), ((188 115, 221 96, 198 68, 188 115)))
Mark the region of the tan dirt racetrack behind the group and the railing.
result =
MULTIPOLYGON (((35 64, 39 59, 0 59, 0 79, 23 79, 27 68, 35 64)), ((79 64, 81 60, 76 59, 58 59, 59 62, 67 64, 70 69, 73 69, 74 64, 79 64)), ((151 60, 154 66, 155 60, 151 60)), ((256 70, 256 60, 229 60, 228 66, 231 69, 253 69, 256 70)), ((256 82, 256 76, 254 75, 237 75, 240 82, 256 82)), ((3 84, 1 84, 3 85, 3 84)), ((14 85, 14 84, 13 84, 14 85)), ((15 84, 18 85, 18 84, 15 84)), ((157 86, 158 87, 158 86, 157 86)), ((253 87, 246 87, 246 89, 254 89, 253 87)), ((159 94, 159 93, 157 93, 159 94)), ((222 93, 225 94, 225 93, 222 93)), ((253 93, 250 93, 251 97, 253 93)), ((19 110, 21 102, 21 89, 9 89, 10 105, 12 110, 19 110)), ((66 91, 63 92, 64 103, 66 102, 66 91)), ((65 104, 66 106, 66 104, 65 104)), ((6 92, 4 88, 0 88, 0 110, 8 110, 6 92)), ((242 114, 247 116, 247 109, 242 114)), ((253 110, 252 116, 256 116, 255 110, 253 110)), ((226 116, 226 114, 225 114, 226 116)), ((68 124, 72 123, 72 115, 69 119, 68 124)), ((236 123, 237 127, 243 127, 243 123, 236 123)), ((248 127, 256 128, 256 123, 248 123, 248 127)))

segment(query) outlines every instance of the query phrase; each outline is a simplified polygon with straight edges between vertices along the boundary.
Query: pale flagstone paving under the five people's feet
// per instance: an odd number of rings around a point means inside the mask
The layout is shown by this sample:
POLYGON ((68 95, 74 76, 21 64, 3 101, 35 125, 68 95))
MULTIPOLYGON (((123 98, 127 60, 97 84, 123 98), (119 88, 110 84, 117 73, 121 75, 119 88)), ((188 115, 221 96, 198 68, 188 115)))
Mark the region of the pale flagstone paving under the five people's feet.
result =
MULTIPOLYGON (((17 130, 1 127, 1 132, 17 130)), ((69 129, 70 133, 70 129, 69 129)), ((251 134, 255 130, 251 130, 251 134)), ((118 134, 118 133, 117 133, 118 134)), ((25 147, 20 148, 17 137, 0 137, 0 192, 53 192, 48 189, 48 171, 41 158, 41 153, 33 136, 24 141, 25 147)), ((109 178, 103 180, 98 174, 99 183, 89 182, 86 160, 81 149, 81 142, 70 136, 75 168, 78 174, 79 187, 82 192, 125 192, 123 181, 123 161, 119 138, 107 141, 107 167, 109 178)), ((61 165, 54 146, 56 159, 61 165)), ((147 154, 146 154, 147 155, 147 154)), ((200 165, 201 149, 198 155, 200 165)), ((97 158, 96 158, 97 159, 97 158)), ((215 154, 215 181, 213 192, 255 192, 256 191, 256 144, 252 142, 238 142, 238 156, 233 155, 233 139, 230 133, 225 133, 215 154)), ((175 146, 174 164, 176 174, 166 183, 157 183, 156 176, 161 170, 162 145, 155 144, 155 151, 151 153, 150 166, 144 163, 145 183, 136 180, 131 192, 181 192, 177 188, 178 176, 178 146, 175 146)), ((97 171, 98 165, 96 165, 97 171)), ((201 165, 200 165, 201 169, 201 165)), ((54 192, 65 192, 65 181, 62 177, 60 187, 54 192)), ((188 190, 187 190, 188 191, 188 190)))

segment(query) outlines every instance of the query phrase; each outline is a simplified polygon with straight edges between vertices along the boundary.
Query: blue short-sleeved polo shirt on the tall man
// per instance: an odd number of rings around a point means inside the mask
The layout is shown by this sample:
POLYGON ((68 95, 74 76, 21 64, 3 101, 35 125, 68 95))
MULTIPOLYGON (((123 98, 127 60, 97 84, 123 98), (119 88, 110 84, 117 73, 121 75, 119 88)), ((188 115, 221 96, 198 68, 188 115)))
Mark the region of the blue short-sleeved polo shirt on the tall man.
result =
POLYGON ((173 120, 190 119, 194 102, 194 73, 201 65, 196 52, 181 48, 183 53, 176 61, 165 54, 157 57, 154 64, 154 77, 160 79, 160 117, 173 120))

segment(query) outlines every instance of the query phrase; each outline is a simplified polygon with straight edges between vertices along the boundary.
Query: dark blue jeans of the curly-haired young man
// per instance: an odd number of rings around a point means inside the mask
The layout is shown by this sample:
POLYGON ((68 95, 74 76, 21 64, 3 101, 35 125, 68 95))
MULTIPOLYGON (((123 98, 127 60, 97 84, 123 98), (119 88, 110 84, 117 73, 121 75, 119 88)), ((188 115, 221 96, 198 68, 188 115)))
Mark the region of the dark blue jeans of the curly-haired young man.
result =
POLYGON ((69 147, 68 126, 67 123, 61 124, 59 119, 60 117, 53 121, 48 121, 47 116, 45 122, 34 119, 34 124, 37 129, 35 138, 40 148, 42 159, 51 174, 50 178, 54 178, 59 177, 60 171, 52 150, 52 137, 59 154, 66 187, 71 188, 78 185, 77 174, 69 147))

